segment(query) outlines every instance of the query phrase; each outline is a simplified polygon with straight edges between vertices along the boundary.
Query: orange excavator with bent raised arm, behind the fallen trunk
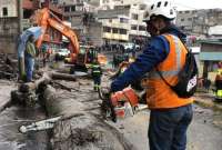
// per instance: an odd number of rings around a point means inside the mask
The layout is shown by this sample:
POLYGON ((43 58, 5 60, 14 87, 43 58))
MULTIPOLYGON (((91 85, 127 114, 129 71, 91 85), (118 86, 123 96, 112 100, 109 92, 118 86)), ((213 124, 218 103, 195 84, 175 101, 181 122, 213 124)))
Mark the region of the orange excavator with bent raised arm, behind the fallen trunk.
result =
MULTIPOLYGON (((87 63, 89 62, 90 51, 88 49, 85 49, 83 52, 80 51, 78 36, 69 26, 64 24, 61 19, 59 19, 53 12, 50 11, 49 8, 43 8, 43 9, 38 10, 38 12, 34 16, 34 20, 36 20, 36 23, 42 28, 42 34, 37 41, 37 48, 41 47, 42 41, 46 37, 47 29, 53 28, 58 30, 59 32, 61 32, 64 37, 67 37, 71 43, 70 58, 68 59, 69 63, 75 64, 78 67, 87 68, 87 63)), ((93 49, 93 51, 95 51, 95 49, 93 49)), ((102 64, 107 63, 105 62, 107 58, 103 54, 97 54, 94 56, 93 59, 99 59, 99 62, 102 64)))

